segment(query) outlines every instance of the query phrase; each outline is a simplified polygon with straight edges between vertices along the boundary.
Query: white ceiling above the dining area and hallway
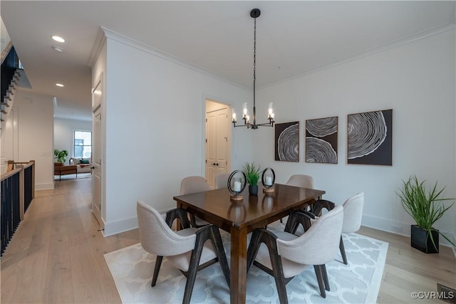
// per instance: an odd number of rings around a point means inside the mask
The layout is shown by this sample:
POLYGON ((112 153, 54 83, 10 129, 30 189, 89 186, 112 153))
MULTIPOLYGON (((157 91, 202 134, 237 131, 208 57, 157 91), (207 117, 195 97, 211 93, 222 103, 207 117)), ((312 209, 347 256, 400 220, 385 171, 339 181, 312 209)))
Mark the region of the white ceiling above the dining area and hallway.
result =
POLYGON ((55 96, 56 117, 90 120, 88 59, 100 26, 252 88, 256 7, 257 87, 455 27, 455 1, 2 0, 0 13, 28 90, 55 96))

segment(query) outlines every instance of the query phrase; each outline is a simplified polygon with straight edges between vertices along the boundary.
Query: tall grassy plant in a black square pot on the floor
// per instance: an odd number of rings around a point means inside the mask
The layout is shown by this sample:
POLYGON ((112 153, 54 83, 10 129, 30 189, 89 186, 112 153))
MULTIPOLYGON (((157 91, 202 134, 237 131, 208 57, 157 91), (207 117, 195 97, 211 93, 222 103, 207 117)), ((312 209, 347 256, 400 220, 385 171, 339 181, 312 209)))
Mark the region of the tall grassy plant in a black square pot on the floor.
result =
POLYGON ((450 206, 443 204, 443 201, 453 200, 440 197, 444 189, 445 187, 438 189, 437 182, 430 189, 426 189, 425 181, 420 182, 418 177, 413 175, 408 181, 403 181, 403 189, 396 192, 403 208, 416 222, 411 226, 411 246, 425 253, 439 252, 439 234, 456 247, 447 236, 433 227, 445 211, 455 204, 454 201, 450 206))

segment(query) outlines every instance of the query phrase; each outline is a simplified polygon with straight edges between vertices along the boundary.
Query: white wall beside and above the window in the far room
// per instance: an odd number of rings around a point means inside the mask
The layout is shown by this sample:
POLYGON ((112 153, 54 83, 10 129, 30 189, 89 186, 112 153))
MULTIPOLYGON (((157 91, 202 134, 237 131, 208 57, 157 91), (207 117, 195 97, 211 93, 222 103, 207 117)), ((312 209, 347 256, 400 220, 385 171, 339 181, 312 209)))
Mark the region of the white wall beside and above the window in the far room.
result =
POLYGON ((68 120, 54 118, 54 149, 67 150, 65 164, 74 155, 74 131, 92 131, 92 122, 88 120, 68 120))

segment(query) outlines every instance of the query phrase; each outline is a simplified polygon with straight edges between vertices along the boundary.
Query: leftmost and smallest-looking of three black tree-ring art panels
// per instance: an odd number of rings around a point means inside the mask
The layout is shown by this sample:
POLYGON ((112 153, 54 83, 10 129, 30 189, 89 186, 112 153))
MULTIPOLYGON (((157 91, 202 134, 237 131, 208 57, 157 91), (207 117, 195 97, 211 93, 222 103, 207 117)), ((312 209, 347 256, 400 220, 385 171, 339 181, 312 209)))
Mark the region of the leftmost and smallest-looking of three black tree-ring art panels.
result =
POLYGON ((276 124, 275 159, 299 162, 299 122, 276 124))

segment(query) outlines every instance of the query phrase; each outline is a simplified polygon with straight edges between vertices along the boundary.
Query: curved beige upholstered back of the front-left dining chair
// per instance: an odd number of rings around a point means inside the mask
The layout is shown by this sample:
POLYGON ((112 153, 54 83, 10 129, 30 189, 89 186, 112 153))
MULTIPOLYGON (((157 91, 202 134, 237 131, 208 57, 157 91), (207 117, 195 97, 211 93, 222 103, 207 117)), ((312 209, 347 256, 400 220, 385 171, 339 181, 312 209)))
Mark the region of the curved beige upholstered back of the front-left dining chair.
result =
POLYGON ((138 201, 136 211, 140 242, 145 251, 157 256, 175 256, 195 247, 195 234, 181 236, 172 231, 162 215, 152 206, 138 201))

